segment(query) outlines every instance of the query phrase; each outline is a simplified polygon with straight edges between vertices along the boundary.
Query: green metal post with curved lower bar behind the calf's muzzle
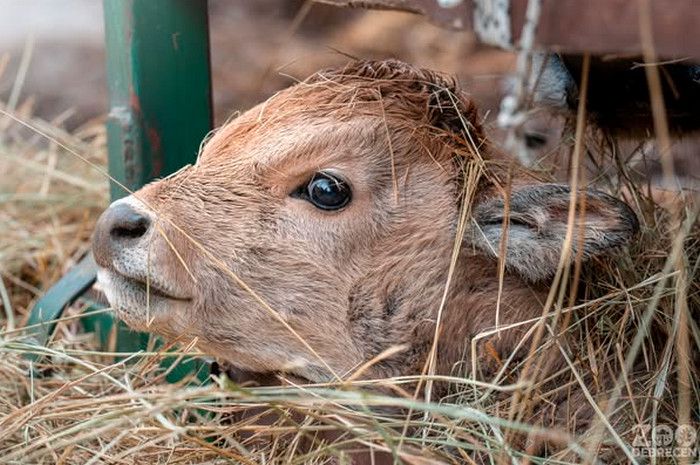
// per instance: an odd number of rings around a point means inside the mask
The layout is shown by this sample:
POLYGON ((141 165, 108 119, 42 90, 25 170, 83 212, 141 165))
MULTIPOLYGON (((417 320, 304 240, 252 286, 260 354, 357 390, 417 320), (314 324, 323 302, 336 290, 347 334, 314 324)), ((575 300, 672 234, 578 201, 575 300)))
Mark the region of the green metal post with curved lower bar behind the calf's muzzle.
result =
MULTIPOLYGON (((196 160, 212 127, 207 0, 104 0, 110 112, 112 200, 196 160), (114 182, 117 181, 117 182, 114 182), (127 190, 120 186, 124 186, 127 190)), ((63 309, 95 281, 91 256, 32 309, 31 341, 48 342, 63 309)), ((109 316, 87 317, 104 337, 109 316)), ((117 327, 118 351, 142 349, 147 336, 117 327)), ((36 358, 36 357, 33 357, 36 358)))

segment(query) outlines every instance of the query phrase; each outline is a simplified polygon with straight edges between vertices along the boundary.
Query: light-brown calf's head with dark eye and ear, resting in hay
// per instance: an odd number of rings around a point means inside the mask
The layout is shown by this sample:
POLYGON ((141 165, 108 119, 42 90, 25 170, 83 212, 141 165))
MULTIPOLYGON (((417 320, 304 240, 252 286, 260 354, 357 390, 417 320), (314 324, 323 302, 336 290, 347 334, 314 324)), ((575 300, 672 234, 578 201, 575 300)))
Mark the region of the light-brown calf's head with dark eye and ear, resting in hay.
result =
MULTIPOLYGON (((416 370, 449 275, 449 369, 495 323, 500 250, 502 323, 539 314, 537 283, 559 263, 569 189, 508 163, 444 76, 396 61, 321 72, 225 124, 196 165, 115 202, 95 232, 99 282, 134 328, 323 381, 395 346, 369 373, 416 370)), ((572 255, 629 240, 626 205, 579 194, 572 255)))

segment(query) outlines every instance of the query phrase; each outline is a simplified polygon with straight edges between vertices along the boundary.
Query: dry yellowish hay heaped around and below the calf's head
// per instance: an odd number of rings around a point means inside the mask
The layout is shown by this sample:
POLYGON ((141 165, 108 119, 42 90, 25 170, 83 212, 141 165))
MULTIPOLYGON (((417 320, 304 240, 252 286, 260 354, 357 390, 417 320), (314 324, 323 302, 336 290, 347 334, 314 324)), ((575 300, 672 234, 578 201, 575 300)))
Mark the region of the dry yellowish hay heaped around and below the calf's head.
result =
MULTIPOLYGON (((529 452, 508 444, 508 430, 535 427, 509 420, 510 395, 493 395, 524 389, 521 380, 506 374, 494 385, 475 383, 460 376, 469 367, 442 378, 454 388, 439 402, 414 395, 415 379, 406 378, 342 386, 241 387, 223 378, 204 386, 193 379, 170 384, 159 365, 163 352, 100 347, 81 328, 81 305, 69 309, 43 350, 50 359, 31 366, 24 355, 42 349, 24 343, 16 328, 42 290, 88 249, 108 194, 104 175, 86 161, 104 166, 106 149, 97 122, 67 134, 21 108, 14 114, 53 141, 0 116, 0 462, 302 464, 340 457, 342 463, 353 446, 371 446, 400 451, 404 463, 427 463, 421 456, 468 463, 474 450, 512 463, 529 452), (395 396, 377 394, 377 386, 395 396), (242 414, 251 407, 252 414, 242 414), (264 412, 274 413, 271 425, 258 421, 264 412), (329 430, 344 435, 333 445, 314 439, 329 430)), ((543 320, 544 342, 556 344, 552 335, 562 330, 574 335, 571 347, 562 347, 570 354, 571 384, 538 380, 534 392, 547 399, 582 387, 597 412, 579 436, 541 431, 568 446, 555 455, 561 463, 595 457, 626 463, 637 425, 697 426, 700 414, 697 203, 664 208, 648 186, 628 181, 633 176, 624 163, 616 165, 598 184, 635 207, 640 235, 620 256, 583 270, 577 296, 584 303, 572 307, 566 279, 553 288, 552 316, 543 320), (638 353, 634 363, 631 351, 638 353)), ((174 354, 194 352, 180 351, 174 354)))

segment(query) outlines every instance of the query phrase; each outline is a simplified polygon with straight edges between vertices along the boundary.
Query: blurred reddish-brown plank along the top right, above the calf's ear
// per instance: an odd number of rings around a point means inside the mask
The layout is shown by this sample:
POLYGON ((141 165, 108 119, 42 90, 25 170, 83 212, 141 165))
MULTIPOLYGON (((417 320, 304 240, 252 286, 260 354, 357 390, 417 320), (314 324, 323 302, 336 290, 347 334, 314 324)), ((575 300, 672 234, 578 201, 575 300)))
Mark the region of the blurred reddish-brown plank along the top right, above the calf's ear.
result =
MULTIPOLYGON (((517 41, 528 0, 322 0, 339 6, 381 8, 424 14, 437 24, 472 29, 475 4, 510 3, 517 41), (456 6, 444 7, 441 5, 456 6)), ((656 52, 660 57, 700 58, 700 1, 650 0, 656 52)), ((542 0, 537 44, 564 53, 641 54, 637 0, 542 0)), ((483 39, 483 37, 482 37, 483 39)))

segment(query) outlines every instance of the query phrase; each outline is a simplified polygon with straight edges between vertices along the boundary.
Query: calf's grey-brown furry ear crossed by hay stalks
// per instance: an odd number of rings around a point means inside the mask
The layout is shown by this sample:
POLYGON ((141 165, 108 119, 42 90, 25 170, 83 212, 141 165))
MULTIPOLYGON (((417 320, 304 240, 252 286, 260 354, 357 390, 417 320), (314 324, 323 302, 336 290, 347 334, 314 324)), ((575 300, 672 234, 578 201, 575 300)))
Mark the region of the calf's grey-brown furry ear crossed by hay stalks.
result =
MULTIPOLYGON (((586 210, 584 218, 575 214, 570 262, 579 254, 587 260, 629 243, 639 223, 625 203, 592 189, 578 195, 586 196, 586 210)), ((499 257, 505 233, 506 269, 533 282, 549 278, 563 252, 570 197, 568 186, 536 184, 514 187, 508 212, 501 197, 482 199, 474 205, 465 239, 481 252, 499 257)))

